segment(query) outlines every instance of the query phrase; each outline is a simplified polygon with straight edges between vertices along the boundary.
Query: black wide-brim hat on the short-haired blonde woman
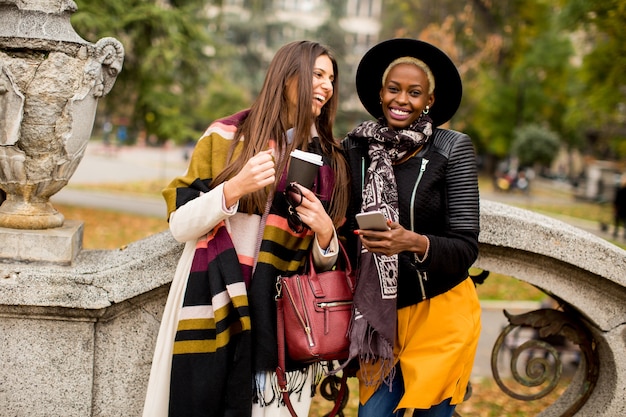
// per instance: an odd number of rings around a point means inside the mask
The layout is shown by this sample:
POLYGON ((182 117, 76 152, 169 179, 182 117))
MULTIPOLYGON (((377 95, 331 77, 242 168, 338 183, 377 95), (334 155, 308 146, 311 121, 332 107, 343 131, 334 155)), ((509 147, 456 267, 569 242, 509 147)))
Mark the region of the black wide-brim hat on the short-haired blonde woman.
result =
POLYGON ((383 115, 380 89, 383 73, 397 58, 410 56, 428 65, 435 77, 435 103, 428 115, 435 126, 450 120, 461 104, 463 85, 452 60, 442 50, 417 39, 383 41, 365 53, 356 71, 356 91, 361 103, 376 119, 383 115))

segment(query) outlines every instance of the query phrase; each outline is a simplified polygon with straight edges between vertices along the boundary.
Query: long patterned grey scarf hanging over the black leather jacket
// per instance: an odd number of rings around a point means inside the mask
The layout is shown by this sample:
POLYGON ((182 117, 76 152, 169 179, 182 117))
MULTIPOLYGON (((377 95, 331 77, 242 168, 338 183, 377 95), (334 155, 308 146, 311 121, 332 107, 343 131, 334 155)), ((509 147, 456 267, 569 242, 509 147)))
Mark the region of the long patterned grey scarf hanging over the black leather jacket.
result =
MULTIPOLYGON (((348 136, 365 138, 370 166, 363 189, 361 211, 380 210, 397 222, 398 188, 393 163, 402 161, 432 135, 432 120, 422 114, 407 129, 393 130, 383 118, 364 122, 348 136)), ((393 344, 396 335, 398 255, 361 250, 354 294, 355 314, 350 332, 350 359, 359 357, 361 375, 368 385, 393 379, 393 344), (379 366, 371 366, 376 363, 379 366), (368 366, 364 366, 368 364, 368 366)))

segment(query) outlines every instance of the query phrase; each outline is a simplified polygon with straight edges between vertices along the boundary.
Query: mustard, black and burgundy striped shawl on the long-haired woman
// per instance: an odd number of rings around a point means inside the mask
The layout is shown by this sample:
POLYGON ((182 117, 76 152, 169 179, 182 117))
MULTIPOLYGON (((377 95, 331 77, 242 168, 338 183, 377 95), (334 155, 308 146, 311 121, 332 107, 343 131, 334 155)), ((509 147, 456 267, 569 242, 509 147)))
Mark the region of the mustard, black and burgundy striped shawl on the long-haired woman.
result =
MULTIPOLYGON (((246 115, 240 112, 209 127, 185 176, 163 192, 168 212, 210 191, 208 184, 224 168, 228 147, 246 115)), ((309 150, 319 153, 319 146, 312 145, 309 150)), ((324 158, 314 191, 325 206, 333 186, 324 158)), ((174 342, 170 415, 247 416, 254 372, 276 368, 276 277, 302 269, 313 239, 309 230, 290 230, 280 190, 284 178, 266 219, 253 276, 254 260, 238 257, 224 222, 197 242, 174 342)))

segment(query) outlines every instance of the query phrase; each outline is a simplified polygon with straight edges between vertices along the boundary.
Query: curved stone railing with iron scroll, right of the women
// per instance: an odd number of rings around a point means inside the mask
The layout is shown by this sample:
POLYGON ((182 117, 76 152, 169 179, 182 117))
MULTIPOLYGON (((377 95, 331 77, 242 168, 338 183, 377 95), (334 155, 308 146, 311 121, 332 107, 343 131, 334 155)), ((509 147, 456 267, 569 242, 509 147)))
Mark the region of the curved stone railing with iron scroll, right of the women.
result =
MULTIPOLYGON (((578 345, 580 366, 541 416, 626 415, 626 252, 552 218, 487 201, 482 202, 480 242, 476 267, 530 283, 564 307, 564 312, 539 310, 513 317, 505 331, 523 326, 578 345)), ((543 369, 526 372, 528 378, 519 378, 522 385, 548 378, 543 369)))

